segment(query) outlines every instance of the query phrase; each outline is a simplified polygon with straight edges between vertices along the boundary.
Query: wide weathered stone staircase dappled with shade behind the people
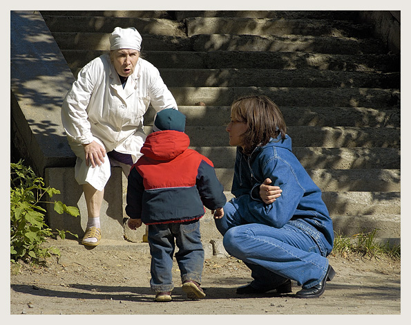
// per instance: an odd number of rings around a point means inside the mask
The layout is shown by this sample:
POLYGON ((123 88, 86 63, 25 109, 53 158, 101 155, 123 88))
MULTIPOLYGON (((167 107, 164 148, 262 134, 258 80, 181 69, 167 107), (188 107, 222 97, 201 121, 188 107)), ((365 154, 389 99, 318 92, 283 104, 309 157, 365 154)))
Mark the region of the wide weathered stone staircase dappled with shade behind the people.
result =
MULTIPOLYGON (((142 55, 187 115, 193 149, 213 160, 230 197, 235 148, 225 127, 239 95, 285 115, 294 153, 323 190, 334 230, 400 237, 400 57, 356 12, 41 11, 77 75, 135 26, 142 55)), ((146 113, 149 133, 153 109, 146 113)), ((210 217, 211 218, 211 217, 210 217)), ((210 225, 212 223, 210 222, 210 225)))

